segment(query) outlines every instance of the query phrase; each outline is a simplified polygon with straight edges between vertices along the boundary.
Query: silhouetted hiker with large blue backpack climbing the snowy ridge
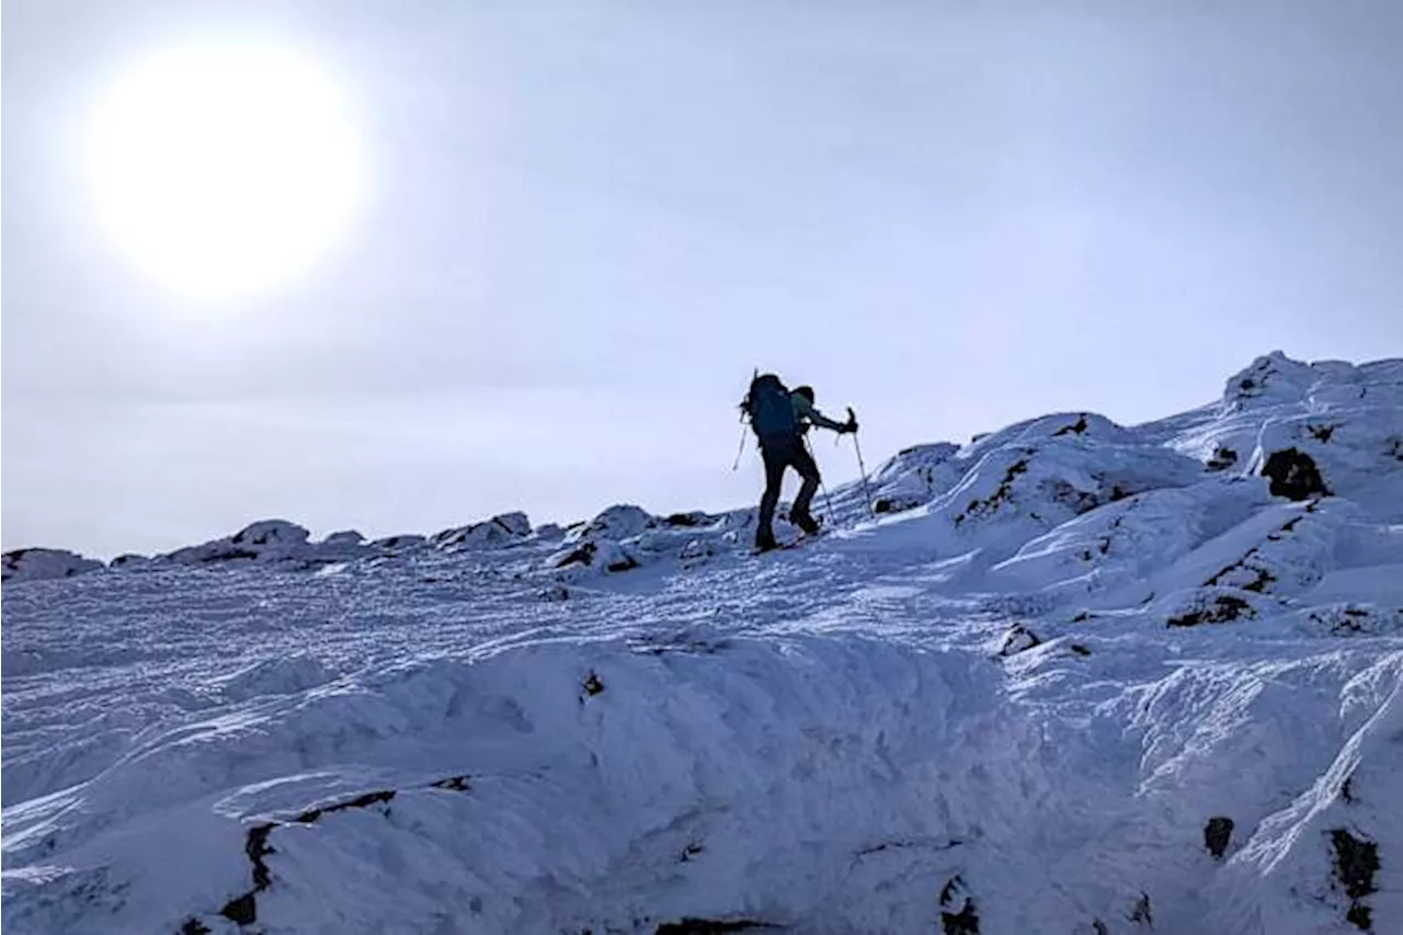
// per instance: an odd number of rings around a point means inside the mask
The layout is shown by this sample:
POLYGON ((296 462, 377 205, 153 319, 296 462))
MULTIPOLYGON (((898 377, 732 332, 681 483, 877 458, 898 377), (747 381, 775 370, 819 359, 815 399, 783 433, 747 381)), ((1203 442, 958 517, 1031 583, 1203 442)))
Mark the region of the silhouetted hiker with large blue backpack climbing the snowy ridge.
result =
POLYGON ((759 526, 755 531, 755 548, 760 552, 774 549, 774 507, 780 501, 780 487, 784 483, 784 469, 793 468, 804 484, 794 505, 790 507, 790 522, 805 535, 818 532, 818 524, 808 507, 818 491, 818 465, 804 445, 804 434, 811 425, 835 432, 856 432, 857 418, 847 410, 847 421, 836 423, 814 407, 814 387, 800 386, 790 392, 780 378, 765 373, 751 380, 741 410, 751 417, 751 428, 760 441, 760 458, 765 460, 765 496, 760 497, 759 526))

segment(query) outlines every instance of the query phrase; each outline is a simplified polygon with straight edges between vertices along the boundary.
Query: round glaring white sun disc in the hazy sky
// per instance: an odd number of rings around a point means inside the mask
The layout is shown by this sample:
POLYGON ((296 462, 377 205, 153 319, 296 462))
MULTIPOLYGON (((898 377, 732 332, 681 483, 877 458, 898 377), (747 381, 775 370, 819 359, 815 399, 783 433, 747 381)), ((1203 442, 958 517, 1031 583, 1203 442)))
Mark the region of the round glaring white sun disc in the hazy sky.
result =
POLYGON ((304 272, 347 233, 363 187, 341 90, 313 60, 258 44, 142 59, 100 98, 84 157, 121 250, 203 298, 304 272))

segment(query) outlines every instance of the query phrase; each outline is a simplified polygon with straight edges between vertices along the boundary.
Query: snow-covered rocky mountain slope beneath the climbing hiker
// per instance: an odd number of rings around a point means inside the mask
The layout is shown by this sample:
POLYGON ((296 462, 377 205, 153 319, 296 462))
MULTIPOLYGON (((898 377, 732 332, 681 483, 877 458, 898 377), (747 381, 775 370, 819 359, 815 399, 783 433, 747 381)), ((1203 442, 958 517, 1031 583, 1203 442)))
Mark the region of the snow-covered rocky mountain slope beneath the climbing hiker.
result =
POLYGON ((832 493, 0 556, 0 932, 1403 932, 1403 361, 832 493))

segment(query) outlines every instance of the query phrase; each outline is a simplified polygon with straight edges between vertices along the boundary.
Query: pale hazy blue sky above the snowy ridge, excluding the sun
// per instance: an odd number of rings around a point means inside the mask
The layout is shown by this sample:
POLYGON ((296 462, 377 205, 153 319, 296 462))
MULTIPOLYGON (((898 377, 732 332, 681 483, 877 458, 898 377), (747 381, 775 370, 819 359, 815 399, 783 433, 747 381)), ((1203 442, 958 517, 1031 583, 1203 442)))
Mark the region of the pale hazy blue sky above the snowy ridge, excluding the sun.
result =
POLYGON ((753 366, 856 406, 874 466, 1397 355, 1399 48, 1390 0, 3 4, 0 549, 739 505, 753 366), (135 51, 234 34, 341 76, 369 201, 202 305, 70 150, 135 51))

